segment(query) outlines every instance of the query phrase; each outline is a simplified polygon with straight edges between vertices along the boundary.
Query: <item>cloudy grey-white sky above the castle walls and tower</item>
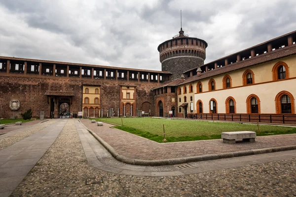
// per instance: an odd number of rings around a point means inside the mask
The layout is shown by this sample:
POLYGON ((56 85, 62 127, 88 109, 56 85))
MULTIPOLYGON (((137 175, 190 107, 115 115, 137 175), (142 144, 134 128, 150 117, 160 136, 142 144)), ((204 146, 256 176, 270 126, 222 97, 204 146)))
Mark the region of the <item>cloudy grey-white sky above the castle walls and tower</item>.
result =
POLYGON ((161 70, 180 9, 205 63, 296 30, 295 0, 0 0, 0 56, 161 70))

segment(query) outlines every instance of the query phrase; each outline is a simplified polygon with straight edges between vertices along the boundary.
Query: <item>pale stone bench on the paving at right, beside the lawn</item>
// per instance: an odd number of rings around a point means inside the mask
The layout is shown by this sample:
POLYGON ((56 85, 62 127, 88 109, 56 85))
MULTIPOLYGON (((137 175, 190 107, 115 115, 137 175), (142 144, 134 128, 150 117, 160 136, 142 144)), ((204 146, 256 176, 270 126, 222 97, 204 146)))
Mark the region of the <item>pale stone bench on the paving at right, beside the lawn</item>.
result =
POLYGON ((235 140, 255 142, 256 132, 254 131, 222 132, 221 138, 223 139, 224 143, 228 143, 228 144, 235 143, 235 140))

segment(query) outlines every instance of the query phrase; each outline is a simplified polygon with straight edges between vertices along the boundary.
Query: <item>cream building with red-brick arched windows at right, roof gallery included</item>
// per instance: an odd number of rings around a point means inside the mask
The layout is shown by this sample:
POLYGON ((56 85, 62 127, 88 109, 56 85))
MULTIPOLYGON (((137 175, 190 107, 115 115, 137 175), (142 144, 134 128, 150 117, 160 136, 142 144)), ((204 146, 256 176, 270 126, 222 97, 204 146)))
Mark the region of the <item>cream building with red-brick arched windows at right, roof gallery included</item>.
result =
POLYGON ((179 117, 296 114, 295 32, 189 70, 184 75, 187 78, 178 84, 179 117))

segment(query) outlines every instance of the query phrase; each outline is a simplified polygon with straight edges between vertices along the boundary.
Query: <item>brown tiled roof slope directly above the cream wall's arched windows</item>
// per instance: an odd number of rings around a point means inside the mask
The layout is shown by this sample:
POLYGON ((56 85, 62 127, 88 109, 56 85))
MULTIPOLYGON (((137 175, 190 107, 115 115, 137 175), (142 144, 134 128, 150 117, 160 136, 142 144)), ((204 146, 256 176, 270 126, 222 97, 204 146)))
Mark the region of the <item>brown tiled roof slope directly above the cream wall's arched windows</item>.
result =
POLYGON ((200 76, 194 75, 192 77, 186 78, 184 82, 180 83, 179 85, 189 83, 192 81, 200 80, 200 79, 205 79, 205 78, 211 78, 223 73, 228 73, 231 71, 235 71, 238 69, 254 66, 257 64, 261 64, 264 62, 272 61, 275 59, 291 56, 296 54, 296 44, 293 44, 291 46, 286 46, 281 49, 277 49, 275 51, 271 51, 268 53, 261 54, 259 56, 255 56, 249 59, 245 59, 233 64, 229 64, 227 66, 223 66, 221 68, 217 68, 211 71, 207 71, 205 73, 202 73, 200 76))

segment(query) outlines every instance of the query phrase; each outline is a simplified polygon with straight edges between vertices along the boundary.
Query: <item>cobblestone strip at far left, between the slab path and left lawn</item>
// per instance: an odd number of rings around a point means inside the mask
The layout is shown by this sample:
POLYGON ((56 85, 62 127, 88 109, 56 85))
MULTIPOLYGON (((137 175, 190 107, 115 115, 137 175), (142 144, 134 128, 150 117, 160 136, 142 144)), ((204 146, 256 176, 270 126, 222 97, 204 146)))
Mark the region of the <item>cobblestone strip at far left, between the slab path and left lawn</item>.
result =
MULTIPOLYGON (((0 150, 11 146, 12 144, 25 139, 26 137, 36 133, 37 131, 55 123, 57 120, 49 120, 40 124, 24 124, 22 128, 20 126, 13 127, 14 131, 10 130, 10 133, 0 135, 0 150), (19 128, 19 129, 17 129, 19 128), (7 137, 6 137, 7 136, 7 137)), ((34 122, 34 121, 32 121, 34 122)), ((26 122, 27 123, 27 122, 26 122)), ((29 122, 28 122, 29 123, 29 122)), ((6 129, 6 128, 5 128, 6 129)))

